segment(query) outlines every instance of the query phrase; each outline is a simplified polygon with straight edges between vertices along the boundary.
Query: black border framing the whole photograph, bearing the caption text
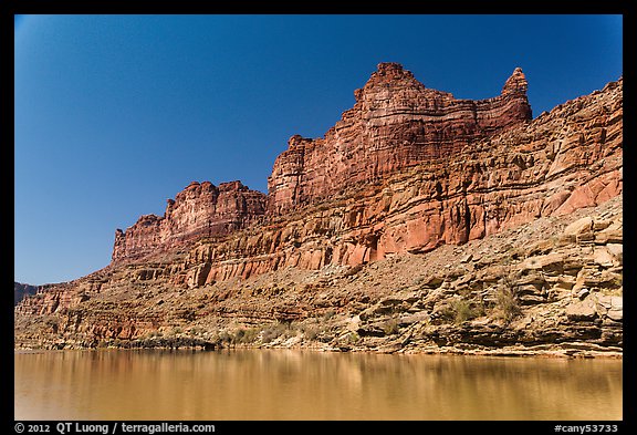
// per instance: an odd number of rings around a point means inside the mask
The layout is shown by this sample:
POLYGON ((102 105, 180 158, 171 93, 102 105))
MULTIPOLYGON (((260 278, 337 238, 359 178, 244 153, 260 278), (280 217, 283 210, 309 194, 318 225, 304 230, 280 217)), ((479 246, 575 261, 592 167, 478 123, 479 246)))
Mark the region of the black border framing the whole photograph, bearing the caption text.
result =
MULTIPOLYGON (((188 13, 284 13, 284 14, 296 14, 296 13, 386 13, 386 14, 400 14, 400 13, 451 13, 451 14, 484 14, 484 13, 493 13, 493 14, 504 14, 504 13, 567 13, 567 14, 598 14, 598 13, 615 13, 615 14, 623 14, 624 15, 624 45, 625 52, 634 52, 630 49, 626 49, 627 46, 633 45, 634 41, 637 40, 637 35, 635 34, 635 15, 633 14, 633 10, 630 8, 630 3, 628 1, 615 1, 615 0, 605 0, 604 2, 557 2, 557 1, 545 1, 545 0, 535 0, 535 1, 526 1, 526 2, 501 2, 501 1, 473 1, 459 4, 458 2, 403 2, 398 4, 396 2, 386 2, 384 4, 365 4, 362 6, 349 6, 348 8, 343 4, 330 4, 327 2, 321 2, 320 4, 313 3, 295 3, 294 6, 282 6, 282 4, 271 4, 270 2, 258 2, 255 4, 249 4, 244 2, 217 2, 217 1, 206 1, 206 0, 180 0, 175 2, 167 2, 167 1, 152 1, 152 0, 84 0, 84 1, 70 1, 70 0, 2 0, 0 1, 0 13, 1 13, 1 22, 0 28, 2 29, 2 35, 0 37, 0 46, 1 46, 1 58, 0 61, 1 66, 1 89, 0 95, 2 95, 2 111, 1 113, 4 115, 2 116, 2 127, 0 132, 2 134, 3 143, 7 144, 3 149, 9 154, 7 157, 3 158, 3 163, 9 166, 6 168, 4 173, 13 174, 13 143, 14 143, 14 132, 13 128, 9 127, 9 123, 13 121, 13 82, 14 82, 14 68, 13 68, 13 49, 9 48, 9 42, 13 41, 14 38, 14 24, 11 22, 13 21, 13 14, 28 14, 28 13, 42 13, 42 14, 60 14, 60 13, 92 13, 92 14, 111 14, 111 13, 139 13, 139 14, 167 14, 167 13, 175 13, 175 14, 188 14, 188 13), (10 21, 11 20, 11 21, 10 21), (628 25, 627 25, 628 24, 628 25), (11 32, 11 33, 10 33, 11 32)), ((627 56, 624 56, 626 60, 627 56)), ((628 56, 629 62, 633 62, 634 56, 628 56)), ((626 143, 634 145, 635 141, 635 111, 633 110, 633 102, 634 100, 634 89, 635 85, 633 84, 630 77, 634 75, 634 71, 629 71, 630 63, 627 65, 624 62, 624 76, 626 77, 625 81, 625 102, 628 101, 628 104, 625 104, 625 118, 628 122, 625 122, 624 125, 628 128, 625 128, 625 139, 626 143), (628 92, 626 92, 628 91, 628 92), (627 133, 627 134, 626 134, 627 133)), ((633 146, 629 146, 628 156, 633 153, 633 146)), ((634 162, 630 157, 628 157, 629 162, 634 162)), ((628 170, 625 174, 625 183, 628 180, 628 184, 631 183, 631 172, 628 170), (626 176, 627 175, 627 176, 626 176)), ((10 183, 6 182, 3 185, 6 187, 10 187, 10 191, 4 194, 6 201, 7 198, 13 198, 13 180, 10 183)), ((628 201, 626 204, 633 204, 630 201, 629 196, 631 195, 633 189, 630 187, 624 188, 624 195, 628 195, 628 201)), ((630 210, 629 210, 630 211, 630 210)), ((3 210, 1 214, 3 217, 2 219, 2 228, 8 228, 11 224, 13 224, 13 214, 9 215, 8 210, 3 210)), ((631 216, 631 214, 627 214, 626 216, 631 216)), ((627 220, 628 222, 629 220, 627 220)), ((626 240, 635 240, 634 232, 635 229, 630 225, 625 226, 625 239, 626 240)), ((6 237, 8 239, 8 237, 6 237)), ((630 244, 626 244, 630 246, 630 244)), ((625 258, 627 259, 627 263, 630 265, 631 255, 628 250, 625 252, 625 258)), ((7 262, 4 262, 7 263, 7 262)), ((631 272, 631 270, 630 270, 631 272)), ((9 277, 9 272, 4 275, 4 277, 9 277)), ((633 391, 634 386, 637 384, 635 382, 634 371, 634 358, 633 358, 633 321, 634 315, 631 313, 631 308, 635 305, 635 293, 633 289, 635 286, 634 277, 631 273, 628 273, 624 278, 625 286, 629 289, 627 292, 624 293, 627 300, 627 307, 624 321, 624 384, 627 385, 624 389, 624 420, 623 421, 609 421, 609 422, 576 422, 576 421, 487 421, 487 422, 476 422, 476 421, 418 421, 418 422, 375 422, 375 421, 365 421, 365 422, 351 422, 351 421, 321 421, 321 422, 259 422, 259 421, 250 421, 250 422, 237 422, 237 421, 219 421, 219 422, 170 422, 174 424, 177 423, 185 423, 187 425, 195 425, 201 423, 212 423, 216 426, 215 433, 230 433, 237 431, 272 431, 276 429, 280 433, 297 433, 300 429, 307 427, 309 425, 312 428, 317 429, 330 429, 330 431, 368 431, 372 429, 373 432, 393 432, 399 429, 410 429, 411 427, 416 427, 418 429, 434 429, 434 431, 468 431, 468 432, 492 432, 492 433, 507 433, 511 434, 514 431, 532 431, 533 433, 544 434, 551 433, 554 434, 556 425, 576 425, 576 426, 586 426, 593 424, 608 424, 608 425, 617 425, 618 432, 624 433, 629 427, 634 431, 634 415, 631 405, 634 403, 633 398, 633 391)), ((8 293, 7 293, 8 297, 8 293)), ((12 311, 9 312, 9 307, 12 307, 9 301, 6 303, 7 313, 3 317, 6 322, 9 323, 6 327, 6 331, 12 329, 12 311)), ((8 335, 8 334, 7 334, 8 335)), ((7 335, 2 335, 7 338, 7 335)), ((13 340, 7 340, 8 343, 11 343, 11 348, 9 345, 3 346, 7 350, 6 358, 11 358, 9 353, 13 351, 13 340)), ((11 360, 13 361, 13 360, 11 360)), ((12 389, 7 389, 7 391, 11 391, 12 389)), ((13 403, 13 401, 11 401, 13 403)), ((7 420, 13 420, 13 405, 6 408, 9 415, 7 415, 7 420)), ((4 418, 3 418, 4 420, 4 418)), ((15 424, 18 422, 9 422, 7 425, 2 425, 2 427, 7 427, 12 433, 18 433, 15 431, 15 424)), ((23 424, 50 424, 55 425, 59 422, 22 422, 23 424)), ((113 425, 113 422, 86 422, 91 424, 109 424, 109 427, 113 425)), ((157 424, 160 422, 129 422, 135 424, 148 423, 148 424, 157 424)), ((27 433, 27 432, 24 432, 27 433)), ((58 433, 52 427, 51 433, 58 433)), ((73 432, 69 432, 73 433, 73 432)), ((122 431, 117 431, 117 433, 122 433, 122 431)), ((589 432, 593 433, 593 432, 589 432)))

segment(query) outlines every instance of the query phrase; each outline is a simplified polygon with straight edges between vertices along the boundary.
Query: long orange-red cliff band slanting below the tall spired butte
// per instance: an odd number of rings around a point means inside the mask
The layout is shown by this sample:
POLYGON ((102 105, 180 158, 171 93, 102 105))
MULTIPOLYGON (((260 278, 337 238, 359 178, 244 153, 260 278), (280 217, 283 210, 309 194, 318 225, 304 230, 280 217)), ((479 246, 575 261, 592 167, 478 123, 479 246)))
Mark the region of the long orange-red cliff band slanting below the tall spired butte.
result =
POLYGON ((622 81, 457 154, 194 248, 174 282, 355 266, 464 244, 623 190, 622 81))

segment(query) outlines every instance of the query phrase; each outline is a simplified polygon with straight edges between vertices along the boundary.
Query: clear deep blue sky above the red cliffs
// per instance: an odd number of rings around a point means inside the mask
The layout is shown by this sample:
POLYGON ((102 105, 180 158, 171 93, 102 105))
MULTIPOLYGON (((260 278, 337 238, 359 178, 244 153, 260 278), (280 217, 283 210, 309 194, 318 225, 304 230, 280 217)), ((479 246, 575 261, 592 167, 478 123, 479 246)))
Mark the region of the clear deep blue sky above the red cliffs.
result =
POLYGON ((190 182, 267 191, 379 62, 458 99, 515 66, 533 115, 623 73, 622 15, 28 15, 14 29, 14 279, 83 277, 190 182))

